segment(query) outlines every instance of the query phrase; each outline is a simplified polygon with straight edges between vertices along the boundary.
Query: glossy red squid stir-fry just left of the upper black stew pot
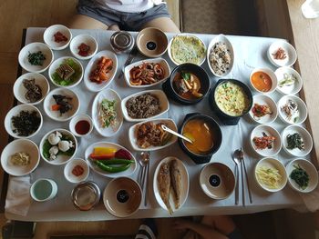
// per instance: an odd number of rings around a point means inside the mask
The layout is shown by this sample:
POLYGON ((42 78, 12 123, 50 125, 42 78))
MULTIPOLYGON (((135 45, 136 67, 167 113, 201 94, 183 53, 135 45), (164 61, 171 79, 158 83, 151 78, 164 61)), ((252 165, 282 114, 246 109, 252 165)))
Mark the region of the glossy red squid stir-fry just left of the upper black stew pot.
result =
POLYGON ((144 62, 130 69, 129 83, 131 85, 152 85, 162 80, 164 75, 164 68, 159 63, 144 62))

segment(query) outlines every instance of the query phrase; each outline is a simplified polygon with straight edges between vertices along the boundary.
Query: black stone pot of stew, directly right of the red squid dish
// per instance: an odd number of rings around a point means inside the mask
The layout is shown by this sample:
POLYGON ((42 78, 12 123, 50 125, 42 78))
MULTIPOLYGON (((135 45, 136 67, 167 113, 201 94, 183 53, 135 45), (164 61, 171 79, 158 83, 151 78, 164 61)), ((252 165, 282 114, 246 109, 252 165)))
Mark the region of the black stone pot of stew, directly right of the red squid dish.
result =
POLYGON ((162 88, 168 97, 181 105, 193 105, 208 94, 210 77, 200 65, 186 63, 173 69, 162 88))

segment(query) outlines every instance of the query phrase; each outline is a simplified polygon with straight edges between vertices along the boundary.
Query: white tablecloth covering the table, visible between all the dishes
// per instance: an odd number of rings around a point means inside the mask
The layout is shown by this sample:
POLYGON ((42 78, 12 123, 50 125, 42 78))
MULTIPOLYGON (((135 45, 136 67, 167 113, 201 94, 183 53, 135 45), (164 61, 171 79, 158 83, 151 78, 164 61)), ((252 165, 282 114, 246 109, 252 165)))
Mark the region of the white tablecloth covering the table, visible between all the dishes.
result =
MULTIPOLYGON (((42 27, 30 27, 26 29, 26 39, 25 45, 33 42, 43 42, 43 34, 46 28, 42 27)), ((87 30, 87 29, 71 29, 73 37, 76 35, 91 35, 98 42, 98 52, 102 50, 112 51, 110 45, 110 36, 114 33, 112 31, 106 30, 87 30)), ((136 37, 137 32, 130 32, 131 35, 136 37)), ((204 44, 207 46, 216 35, 201 35, 196 34, 204 44)), ((174 34, 167 34, 169 40, 174 36, 174 34)), ((269 46, 278 40, 278 38, 270 37, 254 37, 254 36, 240 36, 240 35, 227 35, 228 39, 232 43, 234 51, 234 64, 232 71, 229 75, 222 78, 226 79, 237 79, 242 81, 242 83, 248 85, 252 90, 252 95, 257 93, 253 90, 252 85, 250 85, 250 75, 255 68, 270 68, 273 71, 276 66, 267 58, 267 50, 269 46)), ((54 51, 54 58, 57 59, 62 56, 72 56, 69 48, 64 50, 54 51)), ((128 54, 117 55, 118 57, 118 70, 114 77, 114 80, 108 85, 108 88, 113 89, 118 93, 118 95, 123 99, 134 93, 141 91, 139 88, 132 88, 126 83, 124 77, 118 78, 118 75, 123 70, 124 63, 128 58, 128 54)), ((167 53, 161 56, 170 65, 172 70, 176 65, 170 60, 167 53)), ((147 57, 138 54, 133 62, 147 59, 147 57)), ((80 60, 84 69, 88 63, 88 60, 80 60)), ((201 65, 204 70, 208 73, 211 81, 211 88, 215 85, 219 77, 212 75, 207 59, 201 65)), ((43 73, 49 79, 46 72, 43 73)), ((51 90, 57 86, 50 82, 51 90)), ((86 85, 82 82, 71 88, 77 93, 80 99, 80 107, 78 114, 91 115, 92 113, 92 103, 95 96, 98 93, 91 92, 87 89, 86 85)), ((156 85, 150 87, 150 89, 161 89, 161 85, 156 85)), ((279 92, 273 92, 270 94, 275 102, 283 96, 279 92)), ((170 97, 169 97, 170 99, 170 97)), ((242 204, 242 184, 239 184, 240 200, 239 204, 235 204, 235 194, 234 192, 227 198, 222 200, 214 200, 203 193, 200 185, 200 174, 201 169, 205 164, 195 164, 190 157, 185 154, 180 145, 176 142, 170 146, 160 149, 158 151, 150 152, 149 160, 149 182, 147 188, 148 194, 148 204, 140 204, 139 210, 136 214, 132 214, 129 218, 149 218, 149 217, 171 217, 171 216, 191 216, 191 215, 202 215, 202 214, 253 214, 263 211, 283 209, 283 208, 297 208, 303 206, 303 198, 300 194, 293 191, 293 189, 287 184, 283 190, 276 193, 269 193, 262 190, 262 188, 256 183, 254 178, 254 167, 257 162, 262 158, 256 154, 250 144, 250 134, 252 129, 258 124, 255 123, 250 115, 244 115, 238 124, 228 125, 219 119, 211 109, 208 95, 201 100, 200 103, 196 105, 180 105, 177 102, 170 100, 170 109, 160 118, 170 118, 172 119, 178 127, 184 120, 185 115, 190 113, 200 113, 204 115, 210 115, 221 125, 222 132, 222 142, 220 149, 212 155, 211 163, 220 162, 229 166, 232 171, 235 170, 235 164, 232 160, 233 152, 242 148, 244 153, 244 161, 247 167, 248 181, 250 184, 250 190, 252 192, 252 203, 249 200, 249 194, 247 190, 246 182, 243 190, 243 197, 245 198, 245 204, 242 204), (160 160, 167 156, 175 156, 179 158, 183 164, 186 165, 189 177, 190 177, 190 189, 187 200, 185 204, 181 206, 179 210, 170 215, 168 211, 164 210, 158 204, 153 191, 153 181, 154 172, 160 160)), ((69 128, 69 122, 57 122, 50 119, 43 109, 43 104, 36 105, 38 109, 43 114, 43 126, 41 130, 35 136, 30 139, 39 145, 42 137, 49 131, 56 128, 69 128)), ((76 152, 77 158, 85 157, 85 150, 90 144, 96 142, 112 142, 123 145, 128 148, 129 151, 134 154, 134 156, 139 159, 139 152, 133 150, 129 143, 129 127, 134 123, 127 122, 124 120, 120 130, 117 134, 111 137, 102 137, 96 130, 93 130, 88 136, 81 137, 78 142, 78 148, 76 152)), ((283 121, 277 117, 277 119, 271 124, 275 129, 281 133, 288 124, 283 123, 283 121)), ((303 124, 304 125, 304 124, 303 124)), ((284 152, 282 149, 279 154, 274 156, 276 159, 281 161, 284 165, 288 164, 294 158, 284 152)), ((306 160, 310 160, 310 155, 304 157, 306 160)), ((140 167, 138 165, 137 170, 134 174, 129 175, 134 180, 138 179, 140 167)), ((41 159, 36 170, 30 174, 30 183, 36 181, 36 179, 46 177, 51 178, 57 182, 57 196, 46 202, 36 202, 30 201, 29 209, 26 215, 12 214, 5 211, 6 218, 10 220, 19 221, 100 221, 100 220, 114 220, 117 217, 109 214, 103 204, 103 196, 101 196, 99 203, 89 211, 79 211, 71 199, 71 192, 76 186, 76 184, 69 183, 64 176, 64 165, 52 165, 47 164, 45 160, 41 159)), ((13 176, 9 177, 9 184, 7 191, 13 190, 10 188, 10 181, 13 176)), ((241 178, 241 177, 240 177, 241 178)), ((97 174, 93 170, 90 170, 87 181, 93 181, 98 184, 98 187, 103 194, 108 182, 111 178, 97 174)), ((239 182, 238 182, 239 183, 239 182)))

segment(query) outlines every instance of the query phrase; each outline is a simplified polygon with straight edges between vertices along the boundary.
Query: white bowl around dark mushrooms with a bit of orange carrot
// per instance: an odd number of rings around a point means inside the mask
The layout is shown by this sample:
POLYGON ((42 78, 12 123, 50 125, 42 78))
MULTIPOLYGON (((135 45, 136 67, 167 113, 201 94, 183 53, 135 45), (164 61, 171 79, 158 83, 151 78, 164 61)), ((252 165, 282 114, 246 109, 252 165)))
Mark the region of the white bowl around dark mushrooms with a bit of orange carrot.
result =
POLYGON ((43 102, 43 108, 46 112, 46 115, 56 121, 67 121, 71 119, 74 115, 77 115, 79 107, 80 101, 77 94, 67 88, 57 88, 52 90, 49 94, 46 95, 46 99, 43 102), (55 99, 53 98, 53 95, 65 95, 71 97, 72 100, 70 100, 69 103, 72 105, 72 109, 62 115, 60 115, 59 111, 52 111, 52 105, 57 104, 55 99))

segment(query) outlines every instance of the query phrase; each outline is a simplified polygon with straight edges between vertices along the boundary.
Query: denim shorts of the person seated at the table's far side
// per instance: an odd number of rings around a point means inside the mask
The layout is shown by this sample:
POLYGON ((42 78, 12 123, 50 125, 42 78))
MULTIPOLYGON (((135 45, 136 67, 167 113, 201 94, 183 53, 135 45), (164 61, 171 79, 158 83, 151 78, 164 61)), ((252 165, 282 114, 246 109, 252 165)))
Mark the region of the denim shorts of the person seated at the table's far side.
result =
POLYGON ((170 17, 167 5, 155 5, 140 13, 124 13, 99 7, 94 0, 79 0, 77 14, 87 15, 105 25, 118 25, 121 30, 139 31, 149 21, 159 17, 170 17))

